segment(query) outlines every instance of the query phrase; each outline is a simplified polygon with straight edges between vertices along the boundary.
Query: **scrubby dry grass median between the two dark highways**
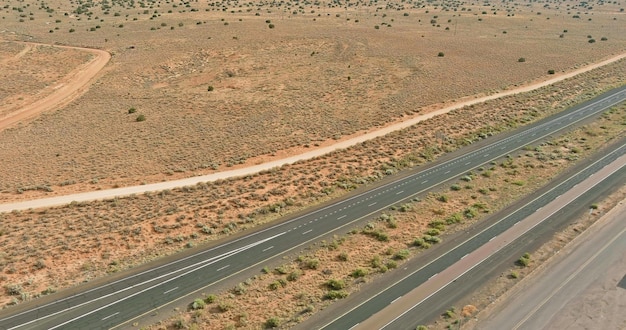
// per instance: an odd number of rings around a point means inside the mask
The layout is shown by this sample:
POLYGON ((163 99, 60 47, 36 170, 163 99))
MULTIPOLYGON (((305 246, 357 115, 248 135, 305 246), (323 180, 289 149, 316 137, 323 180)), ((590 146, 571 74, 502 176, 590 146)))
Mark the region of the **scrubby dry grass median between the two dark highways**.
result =
MULTIPOLYGON (((216 295, 216 301, 207 304, 206 309, 175 313, 177 315, 151 328, 170 329, 184 324, 191 328, 210 325, 213 328, 258 329, 271 317, 277 317, 282 328, 289 328, 332 303, 325 298, 332 292, 329 281, 344 284, 345 287, 336 289, 350 294, 364 283, 401 267, 405 258, 419 254, 421 248, 415 247, 416 238, 428 240, 430 237, 426 234, 430 234, 446 239, 446 234, 462 231, 479 222, 486 214, 544 185, 579 157, 600 148, 607 138, 623 136, 621 127, 625 115, 626 105, 623 104, 620 110, 616 109, 593 124, 541 145, 528 146, 510 158, 479 168, 451 183, 447 189, 371 219, 364 228, 355 228, 349 235, 335 236, 330 242, 312 246, 306 255, 296 260, 287 261, 274 270, 266 268, 265 272, 232 290, 216 295), (595 134, 600 131, 606 134, 602 138, 595 134), (443 195, 446 202, 440 198, 443 195), (388 241, 377 237, 388 237, 388 241), (317 262, 315 269, 308 266, 311 260, 317 262), (359 275, 355 275, 357 270, 360 270, 359 275), (289 280, 292 273, 299 275, 294 281, 289 280), (221 310, 220 304, 231 308, 221 310)), ((557 237, 559 244, 564 241, 561 236, 557 237)), ((558 246, 552 246, 552 250, 555 248, 558 249, 558 246)), ((540 262, 545 253, 539 255, 533 254, 533 264, 540 262)), ((530 269, 517 268, 518 276, 524 276, 530 269)), ((488 303, 485 300, 476 299, 470 303, 483 308, 488 303)), ((476 306, 466 306, 463 313, 474 314, 476 311, 476 306)), ((448 323, 452 321, 448 320, 448 323)), ((440 322, 437 328, 446 324, 440 322)))

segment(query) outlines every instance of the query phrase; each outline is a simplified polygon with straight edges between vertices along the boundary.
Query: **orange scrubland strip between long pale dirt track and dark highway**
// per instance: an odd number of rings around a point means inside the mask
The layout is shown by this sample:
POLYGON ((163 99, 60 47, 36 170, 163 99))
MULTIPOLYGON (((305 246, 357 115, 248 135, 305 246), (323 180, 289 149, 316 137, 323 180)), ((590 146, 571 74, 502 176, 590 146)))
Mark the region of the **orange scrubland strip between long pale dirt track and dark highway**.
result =
MULTIPOLYGON (((432 159, 444 150, 470 143, 480 134, 536 120, 562 105, 594 95, 603 86, 613 84, 610 73, 619 70, 624 70, 623 63, 545 88, 543 93, 459 110, 347 150, 254 176, 103 202, 1 214, 0 244, 7 247, 0 259, 3 282, 26 283, 25 291, 36 296, 47 287, 73 286, 174 253, 189 242, 199 244, 271 221, 278 217, 278 212, 293 212, 339 196, 359 184, 379 180, 432 159), (558 99, 551 92, 557 89, 563 91, 558 99), (511 104, 524 104, 531 99, 535 102, 533 107, 511 110, 511 104), (455 118, 456 126, 449 126, 443 148, 424 148, 438 144, 434 142, 432 127, 446 127, 444 123, 450 116, 455 118), (475 126, 477 118, 483 127, 475 126), (34 266, 40 260, 45 267, 34 266)), ((604 129, 595 127, 590 132, 593 134, 589 138, 606 139, 604 129)), ((579 151, 595 149, 593 145, 584 147, 579 151)), ((556 154, 556 159, 548 164, 567 162, 560 159, 564 156, 574 160, 579 154, 556 154)), ((535 188, 529 179, 524 180, 523 188, 535 188)), ((475 186, 472 190, 480 188, 488 187, 475 186)), ((517 186, 514 190, 521 191, 517 186)), ((498 191, 489 193, 488 205, 492 209, 506 201, 508 192, 498 191)), ((459 206, 450 202, 440 208, 445 214, 456 212, 459 206)), ((420 228, 424 221, 414 225, 420 228)), ((9 302, 12 297, 4 298, 9 302)))

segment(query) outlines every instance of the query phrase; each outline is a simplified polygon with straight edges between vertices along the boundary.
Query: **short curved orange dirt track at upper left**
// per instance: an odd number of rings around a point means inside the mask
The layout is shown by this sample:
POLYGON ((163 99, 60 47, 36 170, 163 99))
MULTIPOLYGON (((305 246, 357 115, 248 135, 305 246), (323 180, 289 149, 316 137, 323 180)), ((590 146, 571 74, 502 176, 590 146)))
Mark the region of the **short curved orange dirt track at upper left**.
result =
POLYGON ((100 49, 46 45, 32 42, 26 42, 25 44, 27 45, 26 48, 10 60, 19 59, 19 57, 26 54, 33 46, 38 45, 76 49, 92 53, 95 56, 91 61, 82 64, 62 79, 61 85, 55 87, 55 91, 52 94, 0 118, 0 131, 20 121, 35 117, 42 112, 57 110, 66 106, 87 91, 90 83, 93 81, 93 78, 107 63, 109 63, 109 60, 111 59, 111 54, 100 49))

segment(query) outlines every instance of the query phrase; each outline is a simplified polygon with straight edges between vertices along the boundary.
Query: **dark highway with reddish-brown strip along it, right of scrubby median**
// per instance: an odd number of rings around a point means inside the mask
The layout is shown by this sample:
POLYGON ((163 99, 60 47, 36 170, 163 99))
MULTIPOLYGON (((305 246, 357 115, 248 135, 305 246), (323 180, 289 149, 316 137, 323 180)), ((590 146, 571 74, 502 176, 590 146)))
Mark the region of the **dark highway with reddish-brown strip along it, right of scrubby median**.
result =
MULTIPOLYGON (((415 308, 428 309, 434 306, 428 301, 429 298, 451 283, 457 280, 463 281, 463 275, 488 260, 492 254, 534 229, 605 177, 626 166, 626 144, 615 150, 613 154, 613 156, 609 154, 603 157, 576 173, 570 179, 385 288, 377 295, 344 312, 331 322, 321 325, 321 328, 414 328, 416 323, 424 321, 422 317, 425 315, 423 312, 414 311, 415 308), (611 162, 610 166, 606 166, 608 162, 611 162), (604 173, 593 174, 601 168, 604 173), (585 178, 587 180, 583 182, 585 178), (414 288, 416 289, 413 290, 414 288), (381 312, 377 313, 378 311, 381 312), (373 316, 369 317, 370 315, 373 316)), ((438 310, 438 312, 441 311, 438 310)), ((313 327, 317 326, 317 324, 313 325, 313 327)))

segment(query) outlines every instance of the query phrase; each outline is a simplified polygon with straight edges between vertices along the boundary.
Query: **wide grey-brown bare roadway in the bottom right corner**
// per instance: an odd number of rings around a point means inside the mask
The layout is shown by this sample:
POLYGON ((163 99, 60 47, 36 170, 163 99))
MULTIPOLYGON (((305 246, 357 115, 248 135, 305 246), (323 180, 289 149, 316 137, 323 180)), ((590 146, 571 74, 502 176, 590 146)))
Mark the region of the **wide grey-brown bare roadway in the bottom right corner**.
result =
MULTIPOLYGON (((580 244, 573 249, 561 251, 563 256, 555 264, 534 274, 532 283, 527 283, 524 290, 516 290, 511 299, 500 304, 492 317, 479 322, 478 329, 550 329, 552 320, 568 302, 580 299, 581 294, 595 281, 604 278, 607 270, 621 261, 621 274, 611 280, 604 290, 621 293, 622 308, 626 306, 626 290, 617 287, 621 276, 626 275, 626 205, 617 207, 601 225, 594 226, 593 232, 586 233, 580 244)), ((613 301, 616 303, 616 301, 613 301)), ((600 309, 602 301, 589 302, 590 309, 600 309)), ((616 304, 617 305, 617 304, 616 304)), ((613 307, 613 308, 611 308, 613 307)), ((618 306, 615 314, 593 315, 596 326, 606 325, 603 318, 621 318, 624 310, 618 306)), ((599 311, 598 311, 599 312, 599 311)), ((575 324, 574 324, 575 325, 575 324)), ((623 326, 624 324, 622 324, 623 326)), ((612 329, 618 329, 614 324, 612 329)), ((609 329, 609 328, 605 328, 609 329)))

